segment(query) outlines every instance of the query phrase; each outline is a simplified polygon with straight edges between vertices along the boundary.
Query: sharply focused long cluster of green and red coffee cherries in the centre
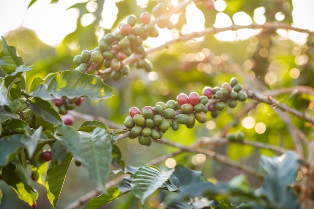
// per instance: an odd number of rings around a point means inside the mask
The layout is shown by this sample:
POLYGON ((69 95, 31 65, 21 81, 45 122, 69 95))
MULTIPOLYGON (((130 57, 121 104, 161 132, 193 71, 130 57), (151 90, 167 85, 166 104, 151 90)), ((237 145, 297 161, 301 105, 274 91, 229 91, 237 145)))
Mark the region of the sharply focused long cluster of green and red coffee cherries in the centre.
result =
POLYGON ((137 137, 140 144, 149 145, 151 139, 162 138, 163 133, 170 128, 178 130, 179 124, 192 128, 196 121, 205 123, 206 113, 209 111, 211 116, 216 118, 226 103, 230 108, 234 108, 237 100, 247 99, 246 93, 241 90, 242 85, 233 77, 229 83, 225 82, 221 87, 204 87, 201 96, 197 92, 191 92, 189 96, 180 93, 176 101, 168 100, 166 103, 160 101, 154 107, 143 107, 142 111, 137 107, 131 107, 124 126, 128 129, 129 138, 137 137))

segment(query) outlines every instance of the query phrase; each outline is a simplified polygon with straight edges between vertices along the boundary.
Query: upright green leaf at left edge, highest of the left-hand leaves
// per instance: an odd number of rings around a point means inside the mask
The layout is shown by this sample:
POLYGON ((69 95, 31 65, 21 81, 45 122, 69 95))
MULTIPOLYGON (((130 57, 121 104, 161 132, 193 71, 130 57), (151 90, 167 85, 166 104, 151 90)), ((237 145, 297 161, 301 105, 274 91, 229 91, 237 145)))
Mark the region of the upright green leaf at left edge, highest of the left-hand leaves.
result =
POLYGON ((17 48, 9 46, 6 39, 2 36, 3 48, 0 53, 0 69, 6 74, 14 73, 17 67, 24 65, 23 59, 18 56, 17 48))

